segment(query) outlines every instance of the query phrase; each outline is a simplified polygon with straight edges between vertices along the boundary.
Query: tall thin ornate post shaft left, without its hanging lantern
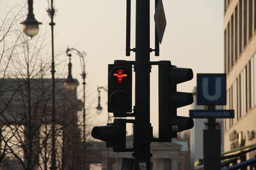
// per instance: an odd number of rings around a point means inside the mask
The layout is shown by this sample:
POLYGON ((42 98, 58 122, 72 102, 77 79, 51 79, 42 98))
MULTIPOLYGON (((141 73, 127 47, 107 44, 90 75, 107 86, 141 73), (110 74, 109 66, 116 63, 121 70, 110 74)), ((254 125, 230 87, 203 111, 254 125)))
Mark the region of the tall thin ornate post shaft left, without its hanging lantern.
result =
POLYGON ((55 64, 54 64, 54 25, 55 23, 53 22, 53 17, 55 10, 53 8, 53 1, 51 0, 51 8, 47 10, 49 17, 51 18, 51 22, 49 25, 51 25, 51 39, 52 39, 52 150, 51 150, 51 169, 55 170, 57 169, 56 166, 56 115, 55 115, 55 78, 54 78, 54 73, 55 73, 55 64))

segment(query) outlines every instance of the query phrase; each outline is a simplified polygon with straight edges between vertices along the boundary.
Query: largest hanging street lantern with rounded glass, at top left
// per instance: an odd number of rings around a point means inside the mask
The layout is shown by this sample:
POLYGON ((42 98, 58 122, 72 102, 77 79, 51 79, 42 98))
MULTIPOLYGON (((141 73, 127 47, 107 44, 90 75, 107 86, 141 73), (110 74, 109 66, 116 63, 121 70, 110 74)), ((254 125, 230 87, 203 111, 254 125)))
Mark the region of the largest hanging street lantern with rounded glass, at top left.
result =
POLYGON ((39 24, 42 22, 38 22, 33 13, 33 0, 28 0, 28 15, 24 22, 20 22, 23 25, 23 31, 27 36, 31 38, 36 36, 39 32, 39 24))

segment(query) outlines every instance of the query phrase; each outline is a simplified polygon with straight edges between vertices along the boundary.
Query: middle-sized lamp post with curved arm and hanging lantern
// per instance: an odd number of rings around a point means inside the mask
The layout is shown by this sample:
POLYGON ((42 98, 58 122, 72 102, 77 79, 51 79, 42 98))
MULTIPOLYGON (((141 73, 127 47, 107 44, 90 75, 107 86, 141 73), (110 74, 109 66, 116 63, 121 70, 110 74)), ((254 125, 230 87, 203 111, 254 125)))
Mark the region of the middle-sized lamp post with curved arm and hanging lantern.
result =
MULTIPOLYGON (((66 53, 67 53, 67 56, 69 57, 68 78, 64 82, 64 87, 67 90, 73 90, 78 85, 78 82, 72 78, 72 74, 71 74, 71 70, 72 70, 72 64, 71 64, 71 56, 72 55, 71 55, 71 52, 72 51, 75 51, 77 53, 77 55, 79 56, 79 59, 80 59, 80 62, 81 62, 81 69, 82 69, 81 76, 83 78, 83 105, 84 105, 83 106, 83 161, 84 161, 84 159, 85 159, 84 150, 85 150, 85 141, 86 141, 86 139, 85 139, 85 137, 86 137, 86 134, 85 134, 85 132, 86 132, 85 131, 85 118, 86 118, 85 117, 86 116, 86 114, 85 114, 85 85, 86 85, 85 78, 86 78, 86 73, 85 73, 84 57, 86 57, 86 54, 84 56, 81 52, 79 52, 79 50, 76 50, 75 48, 67 48, 66 53)), ((83 169, 84 169, 84 164, 83 164, 83 169)))

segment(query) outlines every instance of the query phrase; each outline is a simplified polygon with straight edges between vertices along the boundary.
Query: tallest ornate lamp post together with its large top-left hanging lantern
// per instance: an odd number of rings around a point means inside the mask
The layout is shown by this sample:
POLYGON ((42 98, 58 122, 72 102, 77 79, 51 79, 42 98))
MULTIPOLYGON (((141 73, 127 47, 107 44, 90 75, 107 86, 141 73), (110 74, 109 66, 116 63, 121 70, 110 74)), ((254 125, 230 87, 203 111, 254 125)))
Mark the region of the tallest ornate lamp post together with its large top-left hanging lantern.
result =
MULTIPOLYGON (((52 120, 51 120, 51 131, 52 131, 52 148, 51 148, 51 167, 50 169, 55 170, 57 169, 56 166, 56 111, 55 111, 55 64, 54 64, 54 25, 53 22, 55 9, 53 8, 53 0, 51 0, 51 4, 49 8, 46 10, 49 17, 51 18, 51 22, 49 25, 51 25, 51 45, 52 45, 52 63, 51 63, 51 74, 52 74, 52 120)), ((41 22, 38 22, 35 19, 35 16, 33 14, 33 0, 28 0, 28 17, 24 22, 21 22, 20 24, 23 24, 23 31, 26 35, 30 36, 31 38, 33 36, 36 36, 36 34, 39 31, 38 24, 42 24, 41 22)))

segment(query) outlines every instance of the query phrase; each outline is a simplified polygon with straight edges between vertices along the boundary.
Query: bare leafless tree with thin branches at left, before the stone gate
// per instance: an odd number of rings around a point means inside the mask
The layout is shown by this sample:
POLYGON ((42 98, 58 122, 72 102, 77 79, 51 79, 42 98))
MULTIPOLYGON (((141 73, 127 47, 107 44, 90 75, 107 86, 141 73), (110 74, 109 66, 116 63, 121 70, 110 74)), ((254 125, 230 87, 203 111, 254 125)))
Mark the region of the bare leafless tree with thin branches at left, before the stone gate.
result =
MULTIPOLYGON (((13 9, 12 9, 13 11, 13 9)), ((10 13, 0 27, 0 163, 6 169, 49 169, 51 155, 51 69, 47 36, 32 40, 20 30, 19 16, 10 13), (17 27, 19 27, 17 29, 17 27), (7 77, 7 78, 6 78, 7 77)), ((24 15, 22 15, 24 16, 24 15)), ((76 90, 56 80, 57 155, 60 169, 79 169, 81 132, 77 125, 76 90), (72 160, 67 155, 72 154, 72 160)))

